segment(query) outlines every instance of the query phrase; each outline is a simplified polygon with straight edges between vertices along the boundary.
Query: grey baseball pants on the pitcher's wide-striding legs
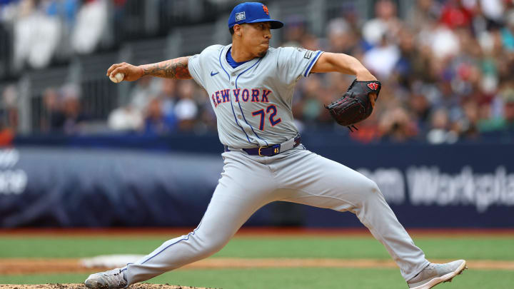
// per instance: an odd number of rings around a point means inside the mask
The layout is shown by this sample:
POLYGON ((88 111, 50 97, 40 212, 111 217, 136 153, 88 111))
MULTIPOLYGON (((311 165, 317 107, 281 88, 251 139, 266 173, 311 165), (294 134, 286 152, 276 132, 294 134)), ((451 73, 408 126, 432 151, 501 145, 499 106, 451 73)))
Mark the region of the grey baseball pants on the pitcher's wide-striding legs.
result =
POLYGON ((361 173, 303 146, 271 157, 238 150, 222 156, 221 178, 198 227, 123 268, 129 285, 218 252, 258 208, 273 201, 355 213, 383 243, 405 280, 428 265, 376 183, 361 173))

